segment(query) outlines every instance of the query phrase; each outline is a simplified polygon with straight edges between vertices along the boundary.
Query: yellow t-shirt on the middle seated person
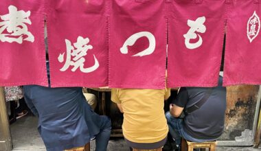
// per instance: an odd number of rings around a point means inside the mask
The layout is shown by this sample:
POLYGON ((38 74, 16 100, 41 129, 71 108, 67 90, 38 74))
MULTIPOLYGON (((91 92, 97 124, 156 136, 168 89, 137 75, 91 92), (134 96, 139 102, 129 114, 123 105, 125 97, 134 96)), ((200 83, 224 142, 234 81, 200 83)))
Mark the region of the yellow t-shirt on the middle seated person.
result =
POLYGON ((122 105, 123 135, 135 143, 155 143, 168 135, 164 100, 170 89, 112 89, 111 100, 122 105))

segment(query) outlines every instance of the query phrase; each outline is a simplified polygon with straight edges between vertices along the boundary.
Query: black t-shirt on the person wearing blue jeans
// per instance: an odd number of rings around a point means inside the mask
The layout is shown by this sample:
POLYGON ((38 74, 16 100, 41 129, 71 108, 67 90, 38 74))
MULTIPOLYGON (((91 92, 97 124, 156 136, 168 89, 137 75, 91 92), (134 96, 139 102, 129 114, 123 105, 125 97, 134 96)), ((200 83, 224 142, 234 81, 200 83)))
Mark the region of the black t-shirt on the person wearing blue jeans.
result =
MULTIPOLYGON (((182 87, 172 104, 189 108, 200 101, 208 89, 212 88, 182 87)), ((218 86, 212 90, 201 108, 185 116, 184 130, 188 135, 196 139, 217 139, 222 135, 227 105, 226 93, 226 88, 222 86, 222 78, 220 78, 218 86)))

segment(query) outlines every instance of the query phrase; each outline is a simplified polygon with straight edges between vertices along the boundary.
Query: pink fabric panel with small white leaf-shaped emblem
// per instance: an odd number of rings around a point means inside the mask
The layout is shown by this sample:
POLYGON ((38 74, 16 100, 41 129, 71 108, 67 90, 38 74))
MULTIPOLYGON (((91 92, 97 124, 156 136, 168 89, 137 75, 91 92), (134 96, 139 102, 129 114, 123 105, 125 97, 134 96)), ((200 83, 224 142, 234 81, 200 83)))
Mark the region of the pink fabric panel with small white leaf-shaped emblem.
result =
POLYGON ((224 85, 261 84, 261 1, 229 3, 224 85))

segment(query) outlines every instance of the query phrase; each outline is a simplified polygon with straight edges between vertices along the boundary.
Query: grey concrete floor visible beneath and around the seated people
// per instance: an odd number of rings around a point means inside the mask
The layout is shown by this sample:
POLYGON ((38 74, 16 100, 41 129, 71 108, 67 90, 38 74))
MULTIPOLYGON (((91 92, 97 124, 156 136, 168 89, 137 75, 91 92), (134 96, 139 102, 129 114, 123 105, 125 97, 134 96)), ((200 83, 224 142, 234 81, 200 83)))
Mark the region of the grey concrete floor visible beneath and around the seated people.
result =
MULTIPOLYGON (((37 130, 38 119, 32 115, 27 115, 18 119, 11 127, 12 142, 15 151, 45 151, 45 145, 37 130)), ((95 141, 91 141, 91 151, 95 149, 95 141)), ((108 151, 128 151, 128 146, 122 138, 114 138, 109 141, 108 151)), ((261 151, 251 147, 221 147, 216 151, 261 151)))

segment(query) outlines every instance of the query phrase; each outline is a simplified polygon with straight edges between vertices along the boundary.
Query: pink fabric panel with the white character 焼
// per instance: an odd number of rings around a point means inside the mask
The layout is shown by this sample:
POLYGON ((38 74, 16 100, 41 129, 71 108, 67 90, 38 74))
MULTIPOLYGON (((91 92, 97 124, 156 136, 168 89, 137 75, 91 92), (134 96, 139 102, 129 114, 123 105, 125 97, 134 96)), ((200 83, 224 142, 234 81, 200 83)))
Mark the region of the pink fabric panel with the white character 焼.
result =
POLYGON ((52 87, 108 86, 106 0, 48 0, 52 87))

